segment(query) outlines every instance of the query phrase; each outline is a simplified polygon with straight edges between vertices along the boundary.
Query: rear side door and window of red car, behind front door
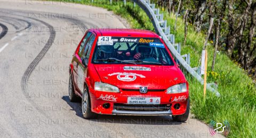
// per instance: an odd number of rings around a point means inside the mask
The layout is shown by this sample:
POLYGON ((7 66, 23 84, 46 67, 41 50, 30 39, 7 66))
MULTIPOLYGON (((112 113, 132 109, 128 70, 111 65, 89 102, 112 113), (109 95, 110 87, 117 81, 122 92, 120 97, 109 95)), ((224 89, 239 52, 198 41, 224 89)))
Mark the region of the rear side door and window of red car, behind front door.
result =
POLYGON ((73 77, 74 77, 74 85, 75 85, 75 89, 77 90, 78 88, 78 84, 77 84, 77 78, 78 78, 78 73, 77 73, 77 67, 78 67, 78 63, 81 61, 82 62, 82 53, 83 53, 83 49, 86 45, 87 40, 90 38, 90 36, 92 35, 92 32, 87 32, 85 34, 85 36, 83 37, 83 39, 81 40, 78 49, 74 55, 74 59, 73 59, 73 77))

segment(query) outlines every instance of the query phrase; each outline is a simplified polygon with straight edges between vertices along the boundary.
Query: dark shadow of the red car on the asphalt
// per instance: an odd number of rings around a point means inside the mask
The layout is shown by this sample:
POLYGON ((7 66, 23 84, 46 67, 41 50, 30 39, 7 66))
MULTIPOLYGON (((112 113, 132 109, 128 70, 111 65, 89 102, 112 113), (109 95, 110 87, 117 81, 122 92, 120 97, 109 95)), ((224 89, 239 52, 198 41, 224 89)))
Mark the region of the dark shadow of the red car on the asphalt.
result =
MULTIPOLYGON (((83 118, 81 102, 70 102, 68 96, 63 96, 72 110, 76 111, 78 117, 83 118)), ((98 115, 97 119, 90 119, 97 123, 118 123, 118 124, 138 124, 138 125, 180 125, 180 122, 174 122, 171 116, 115 116, 98 115)))

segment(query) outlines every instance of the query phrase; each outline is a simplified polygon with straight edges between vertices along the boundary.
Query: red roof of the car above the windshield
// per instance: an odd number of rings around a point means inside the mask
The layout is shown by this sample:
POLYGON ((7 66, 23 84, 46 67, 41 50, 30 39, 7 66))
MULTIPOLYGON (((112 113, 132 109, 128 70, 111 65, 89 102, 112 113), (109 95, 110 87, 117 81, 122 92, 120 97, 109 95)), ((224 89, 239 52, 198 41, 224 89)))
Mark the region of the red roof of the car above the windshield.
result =
POLYGON ((113 37, 150 37, 159 38, 159 36, 149 30, 139 29, 89 29, 91 32, 95 32, 98 36, 113 36, 113 37))

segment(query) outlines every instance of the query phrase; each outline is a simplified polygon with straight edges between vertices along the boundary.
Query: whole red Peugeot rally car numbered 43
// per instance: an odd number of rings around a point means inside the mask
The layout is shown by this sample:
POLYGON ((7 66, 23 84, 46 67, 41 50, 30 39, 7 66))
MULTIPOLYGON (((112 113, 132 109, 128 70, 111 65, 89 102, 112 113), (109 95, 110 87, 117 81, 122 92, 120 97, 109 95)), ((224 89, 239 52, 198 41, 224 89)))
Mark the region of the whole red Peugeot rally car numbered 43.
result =
POLYGON ((90 29, 70 64, 69 98, 82 98, 84 118, 107 115, 189 114, 188 82, 156 33, 90 29))

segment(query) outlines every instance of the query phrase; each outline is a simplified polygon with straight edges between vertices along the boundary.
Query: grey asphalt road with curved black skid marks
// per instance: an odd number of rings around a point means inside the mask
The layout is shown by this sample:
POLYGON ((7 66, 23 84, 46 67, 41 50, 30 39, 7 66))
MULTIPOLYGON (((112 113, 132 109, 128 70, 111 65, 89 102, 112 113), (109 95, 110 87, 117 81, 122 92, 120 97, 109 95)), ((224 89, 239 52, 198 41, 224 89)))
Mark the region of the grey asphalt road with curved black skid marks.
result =
POLYGON ((86 120, 81 102, 69 102, 68 66, 84 32, 126 28, 120 20, 98 7, 0 0, 0 137, 211 137, 191 116, 86 120))

